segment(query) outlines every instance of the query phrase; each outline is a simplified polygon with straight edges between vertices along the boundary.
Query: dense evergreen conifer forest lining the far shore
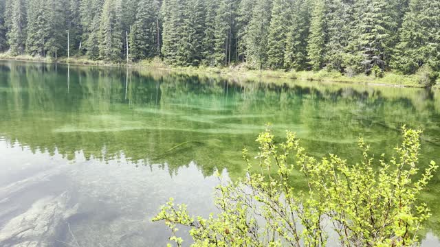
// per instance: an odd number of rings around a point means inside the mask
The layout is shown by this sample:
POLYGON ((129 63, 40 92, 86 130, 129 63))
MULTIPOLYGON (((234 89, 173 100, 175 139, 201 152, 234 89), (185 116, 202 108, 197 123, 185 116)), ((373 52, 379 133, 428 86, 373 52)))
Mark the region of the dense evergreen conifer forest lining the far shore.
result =
POLYGON ((440 67, 440 0, 0 0, 0 51, 173 66, 440 67))

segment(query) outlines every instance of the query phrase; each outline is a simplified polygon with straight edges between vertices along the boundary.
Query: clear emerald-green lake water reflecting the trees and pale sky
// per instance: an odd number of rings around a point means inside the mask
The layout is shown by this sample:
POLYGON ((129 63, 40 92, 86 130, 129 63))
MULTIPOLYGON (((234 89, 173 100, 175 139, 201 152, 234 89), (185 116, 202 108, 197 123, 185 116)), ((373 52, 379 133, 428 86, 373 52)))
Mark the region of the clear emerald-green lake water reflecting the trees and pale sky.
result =
MULTIPOLYGON (((159 205, 213 211, 214 170, 243 176, 268 123, 348 160, 359 137, 390 156, 406 124, 440 162, 438 91, 0 61, 0 245, 164 245, 159 205)), ((423 246, 440 244, 439 178, 423 246)))

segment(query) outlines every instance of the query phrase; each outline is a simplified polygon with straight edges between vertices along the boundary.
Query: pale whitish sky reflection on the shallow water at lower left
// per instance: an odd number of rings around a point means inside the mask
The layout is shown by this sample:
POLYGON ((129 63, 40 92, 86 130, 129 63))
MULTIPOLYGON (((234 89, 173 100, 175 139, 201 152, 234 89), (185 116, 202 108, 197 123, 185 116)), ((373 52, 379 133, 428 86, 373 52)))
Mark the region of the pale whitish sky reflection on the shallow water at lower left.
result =
POLYGON ((168 231, 150 219, 169 196, 193 213, 214 210, 217 178, 193 163, 171 177, 166 165, 135 168, 123 155, 103 163, 77 152, 72 164, 5 141, 0 154, 1 246, 162 246, 168 231))

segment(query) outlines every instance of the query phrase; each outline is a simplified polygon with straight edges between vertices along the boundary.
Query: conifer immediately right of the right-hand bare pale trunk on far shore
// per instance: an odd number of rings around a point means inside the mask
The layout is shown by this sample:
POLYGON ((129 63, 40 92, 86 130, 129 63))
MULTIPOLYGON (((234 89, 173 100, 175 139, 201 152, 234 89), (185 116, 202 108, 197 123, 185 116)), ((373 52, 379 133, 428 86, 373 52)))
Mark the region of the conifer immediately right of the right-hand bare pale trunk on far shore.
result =
POLYGON ((131 30, 131 52, 134 60, 157 55, 157 14, 157 1, 141 0, 138 3, 135 23, 131 30))

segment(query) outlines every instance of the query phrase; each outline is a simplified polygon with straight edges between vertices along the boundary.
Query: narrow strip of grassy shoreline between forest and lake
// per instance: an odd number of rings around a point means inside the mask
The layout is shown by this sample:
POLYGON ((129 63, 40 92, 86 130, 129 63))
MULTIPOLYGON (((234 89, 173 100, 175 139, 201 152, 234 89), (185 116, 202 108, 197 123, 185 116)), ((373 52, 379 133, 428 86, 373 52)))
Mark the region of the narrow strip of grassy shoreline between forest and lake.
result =
MULTIPOLYGON (((32 62, 58 62, 61 64, 75 64, 88 65, 99 67, 133 67, 136 69, 154 69, 165 71, 177 71, 186 73, 214 73, 217 75, 243 76, 254 78, 285 78, 292 80, 307 80, 315 82, 341 82, 347 84, 367 84, 373 86, 394 86, 394 87, 415 87, 423 88, 422 84, 418 83, 416 75, 399 75, 397 73, 387 72, 382 78, 375 78, 366 75, 354 75, 349 77, 338 72, 329 71, 272 71, 272 70, 250 70, 244 67, 171 67, 159 59, 142 60, 132 64, 126 63, 112 63, 103 60, 89 60, 83 57, 74 58, 52 58, 33 57, 28 55, 9 56, 8 54, 0 54, 0 60, 17 60, 17 61, 32 61, 32 62)), ((439 89, 439 85, 434 86, 439 89)))

